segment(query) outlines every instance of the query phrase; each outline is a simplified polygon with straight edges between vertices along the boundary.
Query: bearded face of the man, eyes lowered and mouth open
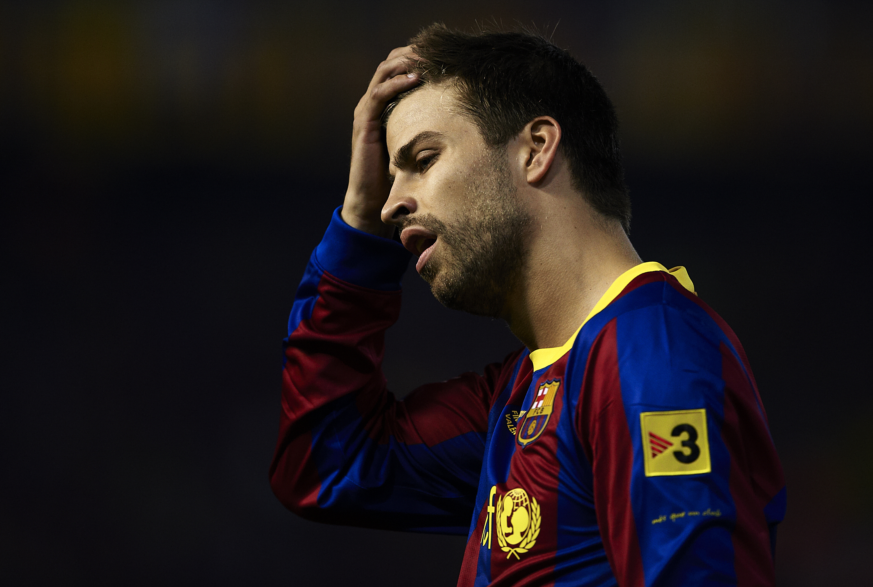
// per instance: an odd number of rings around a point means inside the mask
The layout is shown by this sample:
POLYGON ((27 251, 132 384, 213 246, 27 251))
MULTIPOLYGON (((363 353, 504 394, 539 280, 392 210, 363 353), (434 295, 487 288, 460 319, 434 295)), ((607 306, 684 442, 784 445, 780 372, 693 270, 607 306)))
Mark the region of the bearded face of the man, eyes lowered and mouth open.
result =
POLYGON ((452 90, 424 86, 386 132, 394 176, 382 219, 401 229, 416 270, 446 307, 501 316, 519 283, 531 219, 505 151, 485 145, 452 90))

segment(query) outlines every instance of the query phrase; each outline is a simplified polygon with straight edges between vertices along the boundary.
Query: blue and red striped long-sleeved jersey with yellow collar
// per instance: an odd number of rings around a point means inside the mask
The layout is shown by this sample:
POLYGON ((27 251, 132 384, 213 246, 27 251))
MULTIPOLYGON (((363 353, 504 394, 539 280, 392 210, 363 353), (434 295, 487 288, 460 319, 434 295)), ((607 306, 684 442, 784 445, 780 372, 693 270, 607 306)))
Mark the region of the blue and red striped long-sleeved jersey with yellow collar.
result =
POLYGON ((335 211, 285 339, 272 488, 306 518, 468 536, 458 585, 772 585, 785 483, 746 354, 684 268, 643 263, 557 349, 402 401, 409 253, 335 211))

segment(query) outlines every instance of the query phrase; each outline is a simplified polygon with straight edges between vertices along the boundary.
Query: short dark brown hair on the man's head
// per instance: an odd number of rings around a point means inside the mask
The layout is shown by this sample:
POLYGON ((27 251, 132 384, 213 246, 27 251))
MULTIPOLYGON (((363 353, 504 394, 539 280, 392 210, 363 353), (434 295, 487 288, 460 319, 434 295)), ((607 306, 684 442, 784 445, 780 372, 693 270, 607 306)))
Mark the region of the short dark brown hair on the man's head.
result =
POLYGON ((464 32, 435 23, 409 42, 419 58, 409 71, 423 84, 455 86, 464 113, 490 147, 505 146, 537 116, 558 121, 574 189, 629 232, 615 108, 585 66, 532 31, 464 32))

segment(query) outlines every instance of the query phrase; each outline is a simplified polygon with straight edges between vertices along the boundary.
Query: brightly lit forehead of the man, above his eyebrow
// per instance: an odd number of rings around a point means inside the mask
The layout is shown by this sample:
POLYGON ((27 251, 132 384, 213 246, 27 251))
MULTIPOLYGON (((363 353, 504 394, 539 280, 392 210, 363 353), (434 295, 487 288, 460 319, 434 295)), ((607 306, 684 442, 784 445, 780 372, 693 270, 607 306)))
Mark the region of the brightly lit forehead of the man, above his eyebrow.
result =
POLYGON ((478 129, 461 113, 456 96, 450 86, 428 84, 401 100, 385 128, 388 153, 424 131, 442 133, 451 142, 478 139, 478 129))

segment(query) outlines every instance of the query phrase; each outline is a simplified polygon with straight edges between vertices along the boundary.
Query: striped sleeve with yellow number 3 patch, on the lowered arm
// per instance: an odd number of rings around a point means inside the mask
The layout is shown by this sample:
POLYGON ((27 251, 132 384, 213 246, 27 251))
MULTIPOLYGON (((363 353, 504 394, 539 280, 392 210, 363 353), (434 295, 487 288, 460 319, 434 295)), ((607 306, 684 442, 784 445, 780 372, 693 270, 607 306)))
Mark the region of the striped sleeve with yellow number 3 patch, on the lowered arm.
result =
POLYGON ((597 334, 576 413, 609 563, 622 587, 773 585, 785 486, 745 353, 673 278, 645 279, 597 334))

